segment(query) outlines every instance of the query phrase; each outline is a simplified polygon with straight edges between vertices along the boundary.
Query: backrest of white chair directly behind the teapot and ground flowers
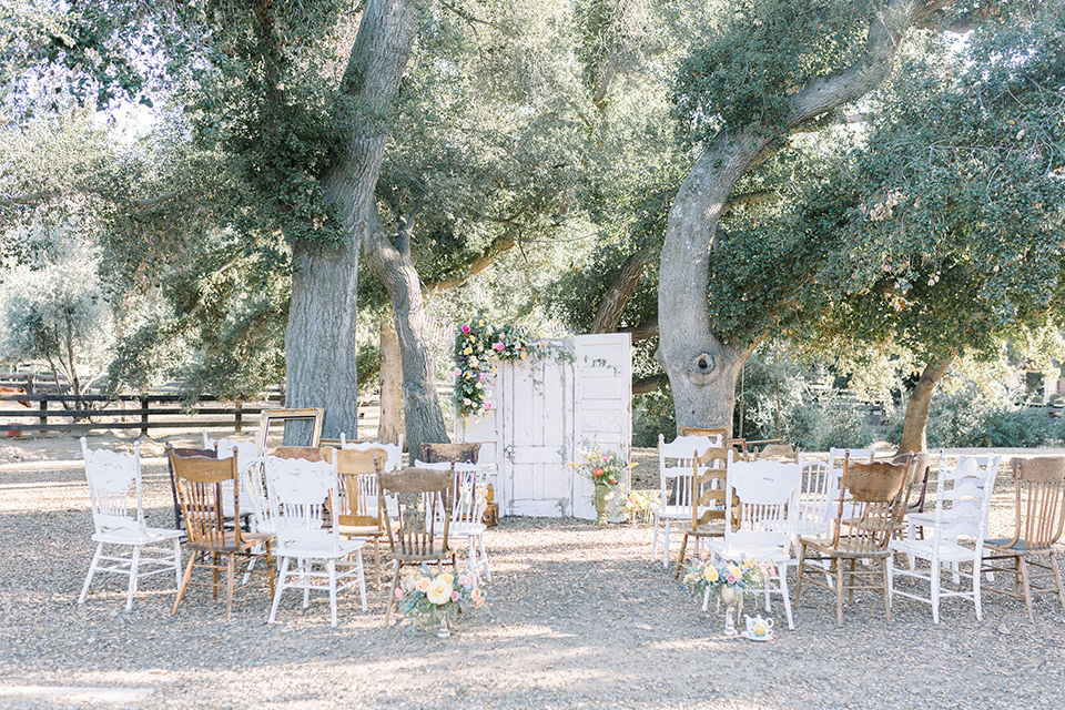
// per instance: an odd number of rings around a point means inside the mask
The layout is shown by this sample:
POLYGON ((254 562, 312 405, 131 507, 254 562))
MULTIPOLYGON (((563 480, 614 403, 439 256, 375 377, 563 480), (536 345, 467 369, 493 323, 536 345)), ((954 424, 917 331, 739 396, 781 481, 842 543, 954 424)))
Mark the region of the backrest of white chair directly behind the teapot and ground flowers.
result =
POLYGON ((724 546, 728 550, 743 548, 787 549, 791 544, 793 516, 799 503, 802 469, 799 464, 784 462, 736 462, 729 453, 726 491, 726 520, 737 519, 733 513, 740 506, 739 528, 724 527, 724 546), (738 501, 737 501, 738 499, 738 501))

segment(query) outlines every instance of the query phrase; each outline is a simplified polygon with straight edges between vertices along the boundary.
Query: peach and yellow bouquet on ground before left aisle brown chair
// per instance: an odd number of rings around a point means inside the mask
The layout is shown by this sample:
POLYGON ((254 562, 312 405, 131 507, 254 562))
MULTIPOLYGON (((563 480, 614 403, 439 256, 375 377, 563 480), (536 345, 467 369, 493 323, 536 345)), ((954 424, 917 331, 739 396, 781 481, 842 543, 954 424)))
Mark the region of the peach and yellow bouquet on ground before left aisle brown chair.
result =
POLYGON ((439 637, 450 636, 448 618, 454 620, 465 608, 480 609, 487 600, 474 575, 459 575, 457 568, 434 574, 428 565, 405 574, 395 594, 404 616, 416 625, 437 627, 439 637))

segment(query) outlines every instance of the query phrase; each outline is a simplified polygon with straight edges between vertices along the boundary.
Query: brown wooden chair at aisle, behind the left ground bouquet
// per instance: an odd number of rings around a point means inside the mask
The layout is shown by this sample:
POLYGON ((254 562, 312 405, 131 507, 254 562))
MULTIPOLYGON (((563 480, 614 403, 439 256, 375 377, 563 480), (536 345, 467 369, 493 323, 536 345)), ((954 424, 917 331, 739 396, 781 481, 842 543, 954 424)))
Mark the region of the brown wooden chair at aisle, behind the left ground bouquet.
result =
POLYGON ((378 506, 387 509, 385 499, 388 496, 394 496, 398 503, 397 523, 385 517, 393 559, 392 589, 388 590, 388 612, 385 616, 387 627, 392 625, 399 570, 404 566, 436 562, 443 569, 445 560, 453 566, 456 564, 455 550, 448 547, 447 539, 454 478, 450 470, 405 468, 378 474, 377 481, 378 506), (443 511, 442 516, 436 515, 438 510, 443 511))

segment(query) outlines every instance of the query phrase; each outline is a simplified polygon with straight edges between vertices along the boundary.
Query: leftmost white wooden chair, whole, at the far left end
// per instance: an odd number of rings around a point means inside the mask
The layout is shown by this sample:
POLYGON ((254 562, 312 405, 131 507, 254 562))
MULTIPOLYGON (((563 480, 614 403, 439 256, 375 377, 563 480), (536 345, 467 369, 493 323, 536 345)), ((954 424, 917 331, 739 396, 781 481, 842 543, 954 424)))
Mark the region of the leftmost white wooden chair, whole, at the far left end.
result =
POLYGON ((85 437, 82 437, 81 455, 89 481, 89 501, 95 529, 92 541, 97 544, 97 551, 89 565, 78 604, 85 602, 85 595, 97 572, 129 577, 126 611, 133 608, 139 579, 172 572, 176 590, 181 586, 182 532, 149 527, 144 520, 140 444, 134 442, 132 455, 119 454, 108 449, 91 450, 85 437), (132 549, 129 556, 119 552, 104 555, 105 547, 132 549))

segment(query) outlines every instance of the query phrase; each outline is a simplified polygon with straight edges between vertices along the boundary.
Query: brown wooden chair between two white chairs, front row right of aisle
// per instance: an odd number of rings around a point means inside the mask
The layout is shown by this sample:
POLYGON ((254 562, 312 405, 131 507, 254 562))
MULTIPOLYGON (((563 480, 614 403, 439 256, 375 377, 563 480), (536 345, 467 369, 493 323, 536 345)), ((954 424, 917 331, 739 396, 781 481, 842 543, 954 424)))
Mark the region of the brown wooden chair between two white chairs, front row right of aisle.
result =
POLYGON ((891 623, 891 551, 888 544, 905 513, 911 489, 909 475, 909 456, 901 464, 858 464, 844 455, 830 537, 799 537, 797 605, 803 582, 834 591, 836 626, 843 626, 844 590, 849 604, 854 601, 855 589, 882 590, 885 620, 891 623), (823 566, 824 560, 831 562, 829 569, 823 566), (849 562, 848 569, 844 569, 844 561, 849 562), (874 561, 880 562, 879 569, 873 567, 874 561), (834 589, 824 580, 826 571, 835 577, 834 589))

